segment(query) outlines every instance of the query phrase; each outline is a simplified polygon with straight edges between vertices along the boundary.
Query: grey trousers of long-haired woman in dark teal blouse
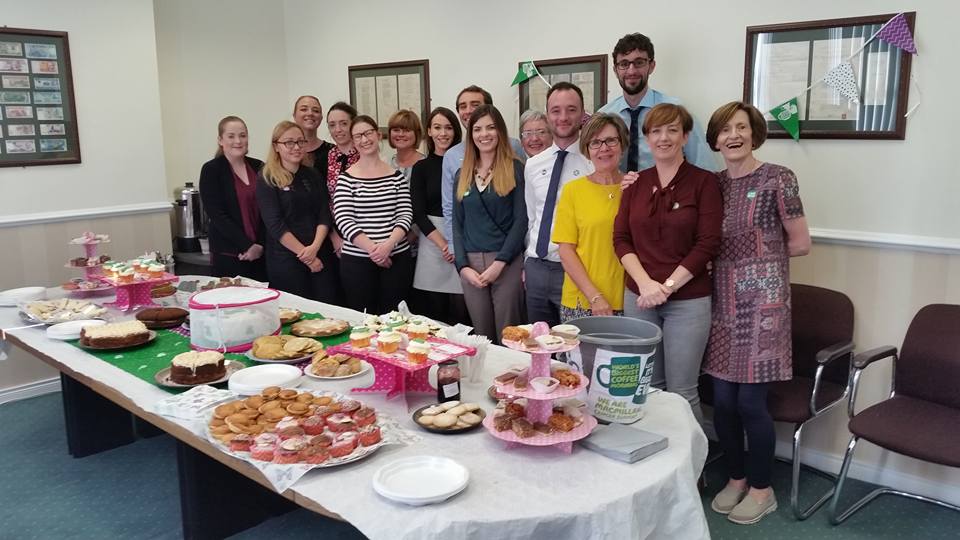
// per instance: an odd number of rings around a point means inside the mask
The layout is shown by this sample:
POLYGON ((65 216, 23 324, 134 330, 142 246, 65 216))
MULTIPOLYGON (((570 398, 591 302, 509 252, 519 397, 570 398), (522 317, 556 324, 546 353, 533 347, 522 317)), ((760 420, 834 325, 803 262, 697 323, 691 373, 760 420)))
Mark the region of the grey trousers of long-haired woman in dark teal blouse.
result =
MULTIPOLYGON (((497 259, 496 253, 467 253, 467 264, 477 273, 483 273, 497 259)), ((523 305, 523 283, 520 273, 523 271, 523 259, 517 257, 500 272, 497 281, 478 289, 460 278, 463 285, 463 299, 473 321, 474 333, 500 343, 500 330, 504 326, 523 324, 525 308, 523 305)))

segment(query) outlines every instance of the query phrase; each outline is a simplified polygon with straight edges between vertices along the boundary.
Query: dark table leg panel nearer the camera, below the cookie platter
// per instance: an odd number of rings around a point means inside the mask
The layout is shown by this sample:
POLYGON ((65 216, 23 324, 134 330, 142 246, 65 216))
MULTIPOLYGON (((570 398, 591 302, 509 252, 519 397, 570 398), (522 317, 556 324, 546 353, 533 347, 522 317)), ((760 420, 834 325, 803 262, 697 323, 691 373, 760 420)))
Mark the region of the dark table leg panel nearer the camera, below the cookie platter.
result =
POLYGON ((187 540, 226 538, 297 505, 177 441, 180 512, 187 540))

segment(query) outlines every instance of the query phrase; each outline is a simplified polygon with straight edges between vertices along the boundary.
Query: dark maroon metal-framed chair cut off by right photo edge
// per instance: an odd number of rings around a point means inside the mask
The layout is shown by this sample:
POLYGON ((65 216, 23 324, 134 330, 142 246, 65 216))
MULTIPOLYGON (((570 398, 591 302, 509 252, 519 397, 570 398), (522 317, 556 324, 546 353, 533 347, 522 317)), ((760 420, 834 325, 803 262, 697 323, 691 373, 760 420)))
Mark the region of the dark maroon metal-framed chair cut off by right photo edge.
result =
POLYGON ((843 483, 860 439, 908 457, 960 467, 960 305, 931 304, 914 316, 897 348, 884 346, 858 354, 853 361, 847 414, 852 433, 837 477, 830 522, 839 525, 880 495, 899 495, 960 512, 945 501, 880 487, 838 514, 843 483), (855 412, 863 370, 878 360, 891 358, 890 395, 855 412))

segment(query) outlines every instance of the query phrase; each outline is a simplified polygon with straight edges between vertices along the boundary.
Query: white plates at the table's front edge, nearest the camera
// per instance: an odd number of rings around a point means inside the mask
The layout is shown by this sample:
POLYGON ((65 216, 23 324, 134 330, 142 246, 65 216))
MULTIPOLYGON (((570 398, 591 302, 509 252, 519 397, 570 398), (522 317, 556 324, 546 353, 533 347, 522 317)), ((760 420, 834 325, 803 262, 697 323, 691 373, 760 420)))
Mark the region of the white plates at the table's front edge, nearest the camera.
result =
POLYGON ((381 467, 373 475, 373 489, 392 501, 423 506, 453 497, 469 481, 470 471, 450 458, 414 456, 381 467))

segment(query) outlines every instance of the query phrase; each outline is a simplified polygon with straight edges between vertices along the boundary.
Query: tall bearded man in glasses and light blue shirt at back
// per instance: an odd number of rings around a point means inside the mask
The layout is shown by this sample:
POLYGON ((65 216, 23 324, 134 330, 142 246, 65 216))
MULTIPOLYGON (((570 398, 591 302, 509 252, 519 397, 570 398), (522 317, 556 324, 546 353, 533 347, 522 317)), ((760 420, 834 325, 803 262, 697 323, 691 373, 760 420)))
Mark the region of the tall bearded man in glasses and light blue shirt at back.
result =
MULTIPOLYGON (((604 105, 599 112, 619 114, 630 131, 630 145, 623 153, 620 170, 629 172, 649 169, 653 167, 653 156, 646 138, 640 134, 643 120, 655 105, 679 104, 680 100, 650 88, 650 75, 657 67, 657 62, 653 59, 653 42, 647 36, 640 33, 623 36, 614 46, 611 56, 623 95, 604 105)), ((683 147, 683 155, 697 167, 708 171, 717 170, 713 153, 696 121, 690 132, 690 139, 683 147)), ((629 185, 629 182, 625 182, 624 187, 626 185, 629 185)))

